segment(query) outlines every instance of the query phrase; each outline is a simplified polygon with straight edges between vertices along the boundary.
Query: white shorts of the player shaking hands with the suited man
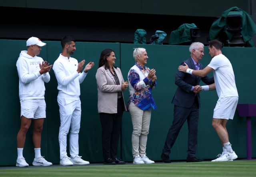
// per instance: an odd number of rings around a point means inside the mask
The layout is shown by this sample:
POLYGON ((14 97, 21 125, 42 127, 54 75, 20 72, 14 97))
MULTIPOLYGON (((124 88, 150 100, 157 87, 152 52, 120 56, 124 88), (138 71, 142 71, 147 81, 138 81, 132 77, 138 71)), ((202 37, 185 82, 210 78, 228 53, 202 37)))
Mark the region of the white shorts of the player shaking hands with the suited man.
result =
POLYGON ((219 98, 214 108, 213 118, 215 119, 233 119, 236 111, 238 97, 219 98))

